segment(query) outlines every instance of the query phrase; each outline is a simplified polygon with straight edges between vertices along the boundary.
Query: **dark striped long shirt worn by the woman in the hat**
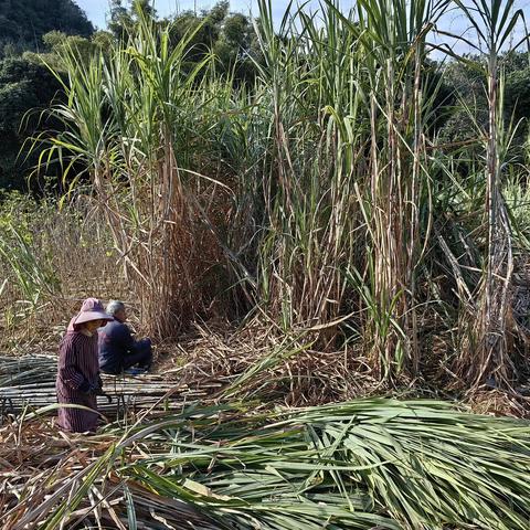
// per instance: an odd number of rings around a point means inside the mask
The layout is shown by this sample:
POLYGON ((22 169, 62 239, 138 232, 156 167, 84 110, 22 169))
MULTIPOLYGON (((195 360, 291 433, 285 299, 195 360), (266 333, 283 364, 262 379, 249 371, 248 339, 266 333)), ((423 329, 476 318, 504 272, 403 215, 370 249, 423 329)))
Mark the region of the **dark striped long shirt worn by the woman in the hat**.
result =
POLYGON ((95 395, 80 391, 86 382, 97 384, 99 367, 97 361, 97 333, 91 337, 81 331, 68 330, 59 348, 57 402, 83 405, 92 411, 59 409, 59 426, 63 431, 83 433, 97 428, 97 402, 95 395))

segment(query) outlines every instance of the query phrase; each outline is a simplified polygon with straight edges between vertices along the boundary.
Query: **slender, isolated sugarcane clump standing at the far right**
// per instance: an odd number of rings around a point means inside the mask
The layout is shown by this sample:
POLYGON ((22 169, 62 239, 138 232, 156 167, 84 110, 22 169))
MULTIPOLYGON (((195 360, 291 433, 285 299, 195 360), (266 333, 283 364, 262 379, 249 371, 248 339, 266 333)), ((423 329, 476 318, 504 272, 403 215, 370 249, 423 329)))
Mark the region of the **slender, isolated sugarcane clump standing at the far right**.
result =
MULTIPOLYGON (((502 59, 505 43, 510 39, 521 10, 512 14, 513 0, 474 0, 470 6, 457 2, 480 42, 486 46, 488 129, 485 131, 487 248, 483 276, 476 350, 473 358, 464 353, 460 359, 466 379, 474 384, 494 378, 495 384, 510 385, 513 362, 508 347, 510 287, 513 255, 509 215, 501 193, 501 167, 506 155, 506 130, 502 119, 502 59)), ((521 41, 527 40, 528 36, 521 41)), ((520 43, 519 43, 520 44, 520 43)), ((517 46, 516 46, 517 47, 517 46)), ((478 46, 477 46, 478 50, 478 46)), ((506 56, 506 55, 505 55, 506 56)))

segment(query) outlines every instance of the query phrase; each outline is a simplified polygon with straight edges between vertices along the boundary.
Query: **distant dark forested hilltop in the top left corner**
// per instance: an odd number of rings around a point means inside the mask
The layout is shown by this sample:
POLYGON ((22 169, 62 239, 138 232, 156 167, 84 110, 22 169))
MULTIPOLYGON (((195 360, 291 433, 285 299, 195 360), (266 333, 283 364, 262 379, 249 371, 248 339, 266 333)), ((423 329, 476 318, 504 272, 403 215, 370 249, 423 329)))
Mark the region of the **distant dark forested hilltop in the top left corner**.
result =
POLYGON ((0 49, 6 44, 38 51, 52 30, 88 36, 94 32, 84 11, 72 0, 0 0, 0 49))

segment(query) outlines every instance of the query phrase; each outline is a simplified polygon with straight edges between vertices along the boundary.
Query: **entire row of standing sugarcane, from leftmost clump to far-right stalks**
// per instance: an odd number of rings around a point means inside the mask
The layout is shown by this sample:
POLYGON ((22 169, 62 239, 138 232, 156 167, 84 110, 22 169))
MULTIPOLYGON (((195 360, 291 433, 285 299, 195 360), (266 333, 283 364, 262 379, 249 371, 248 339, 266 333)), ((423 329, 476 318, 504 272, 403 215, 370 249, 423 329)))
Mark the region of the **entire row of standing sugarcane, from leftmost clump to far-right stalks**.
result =
POLYGON ((319 15, 290 7, 276 26, 261 0, 253 86, 219 74, 213 56, 189 63, 193 33, 171 47, 170 28, 145 13, 89 63, 65 52, 68 103, 52 113, 66 132, 46 136, 47 156, 87 168, 151 332, 172 336, 223 299, 224 315, 254 311, 321 350, 357 340, 395 382, 421 375, 424 330, 443 319, 466 380, 510 379, 498 57, 519 14, 457 2, 484 19, 488 42, 490 119, 468 166, 469 182, 487 176, 484 245, 445 210, 471 202, 433 125, 430 39, 448 6, 363 0, 344 13, 326 0, 319 15))

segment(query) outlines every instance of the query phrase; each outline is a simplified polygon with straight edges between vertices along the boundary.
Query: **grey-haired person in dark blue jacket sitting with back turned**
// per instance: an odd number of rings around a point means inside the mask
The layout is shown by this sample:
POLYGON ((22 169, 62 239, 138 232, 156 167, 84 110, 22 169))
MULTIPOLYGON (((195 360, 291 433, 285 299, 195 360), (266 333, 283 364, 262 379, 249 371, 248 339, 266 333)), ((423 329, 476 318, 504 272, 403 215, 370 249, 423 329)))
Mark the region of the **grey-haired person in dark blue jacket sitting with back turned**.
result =
POLYGON ((112 322, 98 330, 99 369, 104 373, 119 374, 132 367, 138 372, 148 371, 152 362, 151 340, 135 340, 127 320, 123 301, 110 300, 106 312, 114 317, 112 322))

